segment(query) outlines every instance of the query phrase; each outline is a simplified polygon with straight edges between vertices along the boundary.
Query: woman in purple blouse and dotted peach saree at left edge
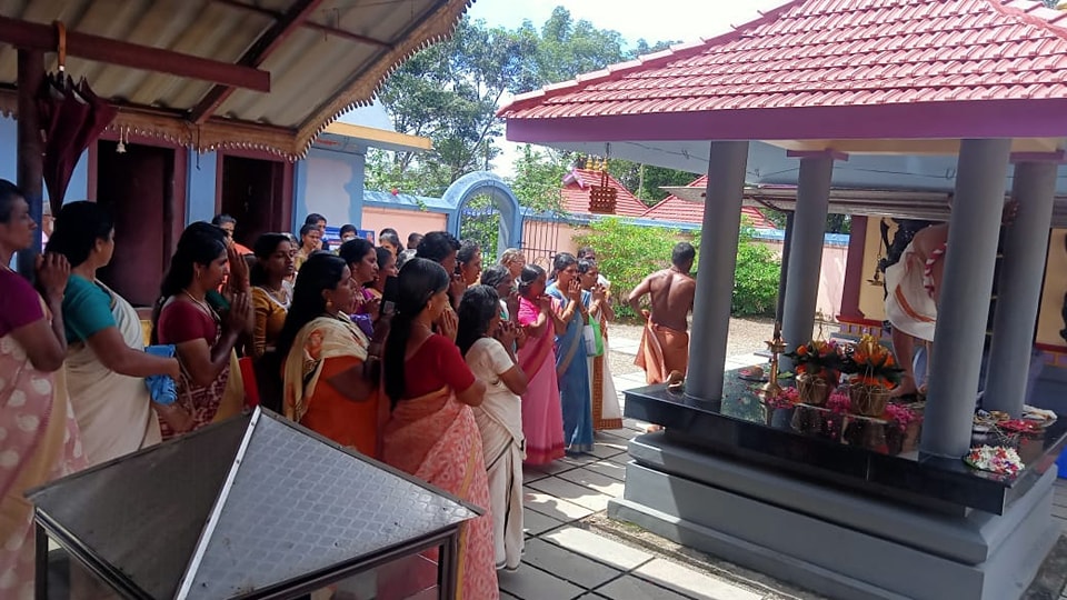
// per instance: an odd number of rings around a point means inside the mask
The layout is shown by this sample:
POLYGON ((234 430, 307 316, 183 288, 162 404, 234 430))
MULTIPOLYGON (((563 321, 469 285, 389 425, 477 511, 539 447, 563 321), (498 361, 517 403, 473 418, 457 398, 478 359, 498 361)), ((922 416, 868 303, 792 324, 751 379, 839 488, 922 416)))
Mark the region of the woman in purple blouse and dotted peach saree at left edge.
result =
POLYGON ((43 257, 42 299, 11 271, 11 256, 33 244, 37 223, 10 181, 0 180, 0 598, 33 598, 32 488, 86 467, 67 397, 62 301, 70 266, 43 257))

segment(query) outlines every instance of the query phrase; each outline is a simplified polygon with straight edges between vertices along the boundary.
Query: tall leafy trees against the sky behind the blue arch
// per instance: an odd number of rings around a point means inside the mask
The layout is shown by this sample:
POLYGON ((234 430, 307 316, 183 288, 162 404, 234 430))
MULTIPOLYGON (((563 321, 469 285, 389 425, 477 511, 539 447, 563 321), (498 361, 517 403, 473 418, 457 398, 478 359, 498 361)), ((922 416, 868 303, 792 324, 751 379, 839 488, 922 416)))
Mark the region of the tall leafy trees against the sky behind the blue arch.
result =
MULTIPOLYGON (((368 186, 439 196, 460 176, 488 170, 500 156, 502 121, 496 117, 506 94, 566 81, 576 76, 661 50, 669 42, 638 40, 632 50, 617 31, 575 20, 557 7, 536 27, 525 21, 515 30, 489 28, 465 18, 452 38, 422 50, 405 62, 385 83, 381 101, 397 131, 430 138, 430 153, 371 150, 367 157, 368 186)), ((566 152, 530 150, 517 160, 513 184, 523 206, 537 210, 558 208, 560 179, 574 157, 566 152)), ((620 161, 621 164, 621 161, 620 161)), ((664 176, 667 169, 627 163, 627 180, 638 197, 659 200, 662 181, 691 180, 692 176, 664 176), (662 171, 662 172, 661 172, 662 171), (640 186, 641 176, 648 184, 640 186)), ((677 171, 670 171, 677 173, 677 171)))

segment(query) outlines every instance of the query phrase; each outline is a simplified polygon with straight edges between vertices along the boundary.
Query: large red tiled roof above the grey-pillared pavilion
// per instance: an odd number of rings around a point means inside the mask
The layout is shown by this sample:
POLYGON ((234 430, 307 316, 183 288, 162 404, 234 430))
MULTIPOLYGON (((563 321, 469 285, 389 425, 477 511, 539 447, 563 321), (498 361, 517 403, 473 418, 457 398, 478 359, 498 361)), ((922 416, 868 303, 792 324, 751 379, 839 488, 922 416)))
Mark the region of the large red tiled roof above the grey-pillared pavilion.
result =
POLYGON ((1067 12, 794 0, 735 31, 516 97, 508 119, 1067 97, 1067 12))

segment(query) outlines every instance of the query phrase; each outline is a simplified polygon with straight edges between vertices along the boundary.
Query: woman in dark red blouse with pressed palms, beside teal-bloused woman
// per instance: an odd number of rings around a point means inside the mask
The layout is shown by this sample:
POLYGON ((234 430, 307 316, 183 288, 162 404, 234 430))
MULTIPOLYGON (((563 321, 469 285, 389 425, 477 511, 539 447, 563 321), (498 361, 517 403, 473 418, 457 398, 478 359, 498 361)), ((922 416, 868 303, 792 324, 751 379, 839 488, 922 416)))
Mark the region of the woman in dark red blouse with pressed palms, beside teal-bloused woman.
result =
MULTIPOLYGON (((230 378, 230 357, 248 326, 248 294, 235 292, 223 320, 207 298, 229 273, 225 233, 208 223, 192 223, 181 233, 163 278, 152 337, 174 344, 181 377, 178 406, 192 416, 192 429, 215 419, 230 378)), ((182 431, 160 423, 163 439, 182 431)))

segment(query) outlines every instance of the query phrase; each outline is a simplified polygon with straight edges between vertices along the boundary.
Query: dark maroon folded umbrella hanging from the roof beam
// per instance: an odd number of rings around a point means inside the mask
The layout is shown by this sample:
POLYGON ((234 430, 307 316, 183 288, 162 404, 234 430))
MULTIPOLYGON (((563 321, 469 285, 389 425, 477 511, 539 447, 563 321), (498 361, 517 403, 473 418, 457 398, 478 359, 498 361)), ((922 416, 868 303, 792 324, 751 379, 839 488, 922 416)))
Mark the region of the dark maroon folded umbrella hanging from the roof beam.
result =
POLYGON ((76 86, 66 72, 66 29, 59 22, 56 27, 59 29, 59 71, 46 74, 37 96, 44 138, 44 186, 53 214, 63 206, 70 176, 81 153, 100 137, 118 113, 93 93, 84 78, 76 86))

